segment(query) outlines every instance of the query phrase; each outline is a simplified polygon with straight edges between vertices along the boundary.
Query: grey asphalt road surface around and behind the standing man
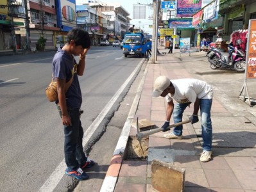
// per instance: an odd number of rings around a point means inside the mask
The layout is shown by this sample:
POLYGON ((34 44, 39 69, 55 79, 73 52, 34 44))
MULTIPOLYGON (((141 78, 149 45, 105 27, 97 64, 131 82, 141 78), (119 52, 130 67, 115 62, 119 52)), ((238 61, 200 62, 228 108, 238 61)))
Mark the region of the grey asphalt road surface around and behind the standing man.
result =
MULTIPOLYGON (((0 191, 38 191, 46 181, 56 183, 56 191, 67 191, 76 184, 67 176, 49 179, 53 172, 60 171, 56 168, 64 160, 61 119, 44 93, 51 81, 54 53, 0 58, 0 191)), ((94 147, 100 148, 94 157, 105 163, 103 171, 110 162, 102 160, 104 154, 112 156, 126 116, 120 114, 112 125, 113 130, 108 132, 112 140, 107 138, 107 146, 100 138, 137 77, 140 62, 141 58, 124 58, 118 47, 92 47, 88 52, 85 74, 80 77, 84 110, 81 122, 85 132, 93 127, 94 132, 85 140, 85 150, 89 153, 94 147)), ((129 105, 125 111, 128 113, 129 105)))

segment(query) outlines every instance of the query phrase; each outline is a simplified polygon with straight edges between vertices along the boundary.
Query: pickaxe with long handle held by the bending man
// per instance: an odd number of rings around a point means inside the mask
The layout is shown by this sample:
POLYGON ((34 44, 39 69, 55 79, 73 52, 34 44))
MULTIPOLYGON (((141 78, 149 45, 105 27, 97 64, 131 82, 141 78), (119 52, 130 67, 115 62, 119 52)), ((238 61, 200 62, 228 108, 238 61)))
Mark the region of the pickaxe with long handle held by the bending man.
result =
MULTIPOLYGON (((179 123, 176 123, 176 124, 172 124, 172 125, 169 125, 169 127, 167 127, 167 131, 170 130, 172 127, 176 127, 178 125, 183 125, 183 124, 187 124, 187 123, 190 123, 191 120, 185 120, 183 122, 179 122, 179 123)), ((141 145, 141 140, 142 138, 146 137, 146 136, 149 136, 151 134, 154 134, 156 132, 160 132, 160 131, 164 131, 164 129, 161 127, 161 128, 157 128, 157 129, 151 129, 149 131, 143 131, 143 132, 140 132, 139 131, 139 118, 137 118, 137 124, 136 124, 136 128, 137 128, 137 134, 136 134, 136 138, 137 140, 139 141, 140 145, 141 145)), ((141 149, 142 149, 142 146, 141 146, 141 149)), ((143 149, 142 149, 142 152, 143 152, 143 149)))

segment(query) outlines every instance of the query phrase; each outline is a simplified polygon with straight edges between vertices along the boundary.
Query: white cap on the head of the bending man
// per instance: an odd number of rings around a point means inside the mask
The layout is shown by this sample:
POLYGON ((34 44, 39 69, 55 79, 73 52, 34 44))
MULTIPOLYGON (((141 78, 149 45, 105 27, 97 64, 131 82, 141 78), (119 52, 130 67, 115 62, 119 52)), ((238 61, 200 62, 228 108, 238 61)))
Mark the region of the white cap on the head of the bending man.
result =
POLYGON ((170 86, 170 79, 166 76, 160 76, 155 79, 153 97, 159 97, 164 90, 170 86))

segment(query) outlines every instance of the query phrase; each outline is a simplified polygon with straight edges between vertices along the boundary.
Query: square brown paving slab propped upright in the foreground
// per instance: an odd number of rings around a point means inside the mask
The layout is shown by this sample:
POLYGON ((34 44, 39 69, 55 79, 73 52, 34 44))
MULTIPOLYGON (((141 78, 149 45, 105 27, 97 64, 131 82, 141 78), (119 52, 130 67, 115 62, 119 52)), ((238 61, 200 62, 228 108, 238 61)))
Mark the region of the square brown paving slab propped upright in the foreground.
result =
POLYGON ((151 164, 151 185, 160 192, 184 190, 185 169, 154 159, 151 164))

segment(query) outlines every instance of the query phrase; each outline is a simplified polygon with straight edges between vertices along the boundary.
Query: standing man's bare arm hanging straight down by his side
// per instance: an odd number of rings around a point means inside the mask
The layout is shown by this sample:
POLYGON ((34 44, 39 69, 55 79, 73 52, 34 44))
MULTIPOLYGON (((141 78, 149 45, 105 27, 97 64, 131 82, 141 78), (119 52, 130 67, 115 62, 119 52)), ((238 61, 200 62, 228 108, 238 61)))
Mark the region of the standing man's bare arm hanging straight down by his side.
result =
POLYGON ((57 91, 58 91, 58 103, 60 105, 60 109, 62 110, 62 124, 63 125, 72 125, 71 117, 67 112, 67 103, 65 98, 65 79, 55 78, 57 83, 57 91))

